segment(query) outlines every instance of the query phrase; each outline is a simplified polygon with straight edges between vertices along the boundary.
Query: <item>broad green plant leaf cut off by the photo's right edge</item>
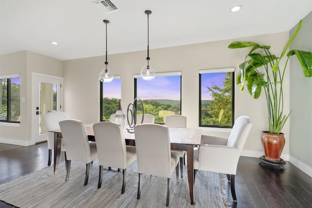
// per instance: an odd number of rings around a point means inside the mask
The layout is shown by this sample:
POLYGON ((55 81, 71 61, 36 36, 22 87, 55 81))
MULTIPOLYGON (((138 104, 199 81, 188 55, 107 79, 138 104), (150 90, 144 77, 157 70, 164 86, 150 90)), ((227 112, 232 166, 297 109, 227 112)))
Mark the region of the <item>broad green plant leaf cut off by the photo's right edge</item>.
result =
POLYGON ((310 51, 291 50, 287 56, 290 57, 294 54, 300 62, 304 76, 312 77, 312 53, 310 51))

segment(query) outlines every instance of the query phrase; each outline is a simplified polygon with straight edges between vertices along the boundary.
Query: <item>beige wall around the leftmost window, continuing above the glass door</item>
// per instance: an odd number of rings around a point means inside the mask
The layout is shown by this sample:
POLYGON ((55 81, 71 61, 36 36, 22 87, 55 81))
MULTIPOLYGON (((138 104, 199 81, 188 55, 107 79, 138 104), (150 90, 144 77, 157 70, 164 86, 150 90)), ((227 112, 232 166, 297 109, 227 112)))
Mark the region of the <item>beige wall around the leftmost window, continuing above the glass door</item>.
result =
POLYGON ((32 136, 32 72, 63 76, 63 62, 30 51, 0 56, 0 75, 20 74, 20 124, 0 123, 0 142, 29 146, 32 136))

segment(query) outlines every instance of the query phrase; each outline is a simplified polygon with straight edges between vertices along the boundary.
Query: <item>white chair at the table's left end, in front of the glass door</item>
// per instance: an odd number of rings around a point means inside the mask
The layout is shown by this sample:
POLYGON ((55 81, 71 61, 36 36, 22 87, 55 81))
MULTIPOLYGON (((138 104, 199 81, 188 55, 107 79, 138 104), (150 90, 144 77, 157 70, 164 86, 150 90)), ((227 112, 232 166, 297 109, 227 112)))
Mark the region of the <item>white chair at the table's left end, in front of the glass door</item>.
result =
MULTIPOLYGON (((61 111, 53 111, 49 113, 44 113, 42 115, 42 122, 44 125, 45 133, 47 136, 48 141, 48 153, 49 153, 49 159, 48 159, 48 166, 51 165, 52 160, 52 150, 54 149, 54 133, 48 132, 50 130, 59 129, 59 121, 68 119, 69 115, 68 113, 61 112, 61 111)), ((64 142, 63 139, 61 139, 61 151, 64 151, 65 153, 65 160, 66 160, 66 152, 64 148, 64 142)))

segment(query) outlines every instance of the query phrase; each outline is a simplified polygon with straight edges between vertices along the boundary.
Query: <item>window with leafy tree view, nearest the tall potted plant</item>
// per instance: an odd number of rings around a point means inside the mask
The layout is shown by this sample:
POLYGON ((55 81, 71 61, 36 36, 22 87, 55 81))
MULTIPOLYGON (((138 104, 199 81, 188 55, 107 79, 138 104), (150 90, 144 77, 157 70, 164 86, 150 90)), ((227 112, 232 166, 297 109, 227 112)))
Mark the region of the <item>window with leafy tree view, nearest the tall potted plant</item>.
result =
POLYGON ((234 68, 199 70, 199 126, 232 128, 234 68))

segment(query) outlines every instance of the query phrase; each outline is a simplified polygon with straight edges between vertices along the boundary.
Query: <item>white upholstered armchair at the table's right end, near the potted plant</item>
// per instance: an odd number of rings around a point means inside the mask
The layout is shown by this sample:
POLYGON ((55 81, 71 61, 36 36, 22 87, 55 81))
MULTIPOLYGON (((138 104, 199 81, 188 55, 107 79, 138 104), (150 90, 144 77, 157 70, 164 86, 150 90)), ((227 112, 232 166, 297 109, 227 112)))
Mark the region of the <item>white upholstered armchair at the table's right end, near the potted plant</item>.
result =
POLYGON ((201 145, 194 151, 194 174, 196 170, 227 174, 234 202, 237 163, 252 125, 249 117, 241 116, 236 119, 229 138, 202 135, 201 145))

